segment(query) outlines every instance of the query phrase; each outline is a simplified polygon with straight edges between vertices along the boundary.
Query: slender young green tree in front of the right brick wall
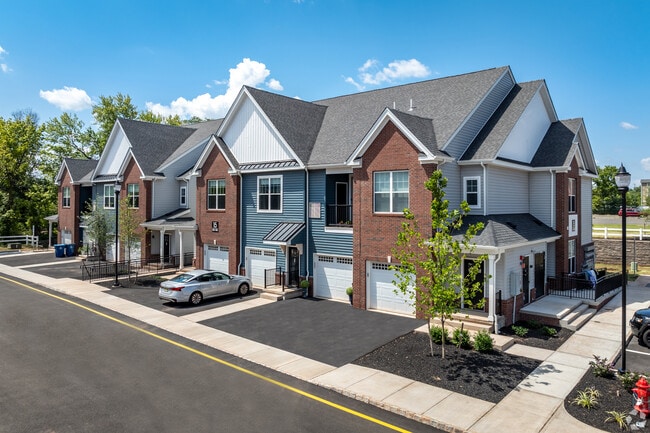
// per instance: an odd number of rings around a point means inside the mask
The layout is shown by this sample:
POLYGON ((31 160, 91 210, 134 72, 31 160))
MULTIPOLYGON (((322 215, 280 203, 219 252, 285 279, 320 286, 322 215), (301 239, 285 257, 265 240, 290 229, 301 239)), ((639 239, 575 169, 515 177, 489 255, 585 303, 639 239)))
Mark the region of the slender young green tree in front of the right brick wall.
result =
MULTIPOLYGON (((471 240, 483 229, 483 224, 463 226, 469 205, 462 202, 460 209, 450 211, 449 201, 444 198, 446 186, 447 179, 439 170, 425 182, 426 189, 432 194, 430 228, 421 228, 413 212, 404 209, 405 221, 393 250, 399 264, 392 266, 397 277, 394 281, 396 293, 407 296, 416 312, 426 317, 429 335, 431 320, 439 318, 443 336, 445 321, 451 320, 452 315, 458 312, 461 299, 470 304, 474 294, 480 290, 483 282, 476 281, 476 276, 486 259, 486 256, 474 258, 474 264, 462 275, 461 265, 475 248, 471 240)), ((429 341, 429 346, 433 356, 432 341, 429 341)), ((445 357, 444 338, 442 357, 445 357)))

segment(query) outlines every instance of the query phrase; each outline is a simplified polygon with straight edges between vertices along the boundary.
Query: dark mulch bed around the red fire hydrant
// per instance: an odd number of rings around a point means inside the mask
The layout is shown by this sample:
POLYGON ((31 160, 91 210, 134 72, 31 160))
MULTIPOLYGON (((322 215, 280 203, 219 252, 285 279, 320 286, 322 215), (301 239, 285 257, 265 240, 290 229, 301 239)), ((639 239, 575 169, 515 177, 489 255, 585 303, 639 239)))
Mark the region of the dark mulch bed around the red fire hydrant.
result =
MULTIPOLYGON (((619 379, 597 377, 592 370, 582 377, 582 380, 564 400, 564 407, 574 418, 607 432, 621 431, 617 422, 605 422, 610 416, 607 412, 610 411, 623 412, 629 415, 632 424, 641 421, 638 414, 631 413, 633 406, 632 394, 623 388, 619 379), (584 391, 590 387, 600 392, 598 405, 595 408, 586 409, 572 403, 572 400, 578 396, 578 391, 584 391)), ((627 430, 630 430, 630 428, 628 427, 627 430)), ((650 420, 647 422, 647 426, 640 431, 650 431, 650 420)))

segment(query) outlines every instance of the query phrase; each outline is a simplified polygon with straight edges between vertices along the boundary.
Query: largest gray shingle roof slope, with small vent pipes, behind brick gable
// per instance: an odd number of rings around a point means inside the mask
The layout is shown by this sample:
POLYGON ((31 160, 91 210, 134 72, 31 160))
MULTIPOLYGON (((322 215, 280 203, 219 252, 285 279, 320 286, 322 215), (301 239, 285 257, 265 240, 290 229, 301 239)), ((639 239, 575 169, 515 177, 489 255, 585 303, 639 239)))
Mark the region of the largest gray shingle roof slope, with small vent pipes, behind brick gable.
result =
POLYGON ((442 148, 508 67, 438 78, 315 101, 327 106, 310 164, 344 162, 386 108, 432 122, 433 139, 442 148), (410 110, 411 101, 413 109, 410 110))

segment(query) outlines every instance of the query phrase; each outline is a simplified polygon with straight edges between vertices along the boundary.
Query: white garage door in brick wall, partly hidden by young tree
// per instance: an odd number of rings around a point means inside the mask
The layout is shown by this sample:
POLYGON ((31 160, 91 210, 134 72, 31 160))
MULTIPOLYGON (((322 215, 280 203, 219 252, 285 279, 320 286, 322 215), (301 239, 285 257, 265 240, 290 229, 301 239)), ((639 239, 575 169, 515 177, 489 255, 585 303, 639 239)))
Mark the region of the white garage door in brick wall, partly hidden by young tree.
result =
POLYGON ((408 297, 395 293, 393 280, 398 281, 395 271, 388 269, 388 263, 370 262, 366 265, 368 279, 368 308, 395 313, 414 314, 408 297))

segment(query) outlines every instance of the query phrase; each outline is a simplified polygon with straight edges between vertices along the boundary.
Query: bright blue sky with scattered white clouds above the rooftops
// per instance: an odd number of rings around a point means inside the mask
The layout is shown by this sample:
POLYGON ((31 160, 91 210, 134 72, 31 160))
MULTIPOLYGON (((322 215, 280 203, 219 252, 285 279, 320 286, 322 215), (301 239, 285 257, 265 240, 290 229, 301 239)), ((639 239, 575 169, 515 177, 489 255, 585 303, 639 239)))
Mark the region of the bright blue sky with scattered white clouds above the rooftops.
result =
POLYGON ((99 96, 222 117, 242 84, 312 101, 510 65, 650 178, 650 1, 0 0, 0 117, 99 96))

